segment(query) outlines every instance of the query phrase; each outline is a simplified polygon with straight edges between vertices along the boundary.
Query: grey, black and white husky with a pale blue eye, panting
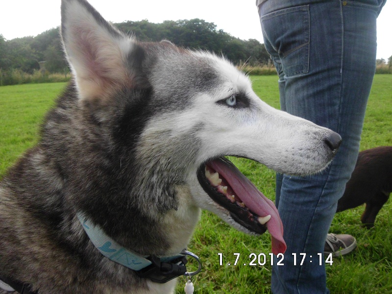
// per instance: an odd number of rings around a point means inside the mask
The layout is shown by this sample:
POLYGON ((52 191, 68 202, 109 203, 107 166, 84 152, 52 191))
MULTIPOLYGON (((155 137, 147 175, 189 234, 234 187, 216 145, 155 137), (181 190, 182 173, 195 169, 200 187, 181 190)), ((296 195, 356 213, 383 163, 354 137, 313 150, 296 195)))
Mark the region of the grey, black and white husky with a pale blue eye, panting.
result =
POLYGON ((0 279, 39 294, 173 292, 175 279, 102 255, 80 215, 141 256, 181 252, 200 208, 246 233, 268 229, 284 252, 274 204, 224 156, 310 174, 340 136, 268 106, 224 58, 138 42, 85 0, 62 0, 61 16, 73 81, 1 181, 0 279))

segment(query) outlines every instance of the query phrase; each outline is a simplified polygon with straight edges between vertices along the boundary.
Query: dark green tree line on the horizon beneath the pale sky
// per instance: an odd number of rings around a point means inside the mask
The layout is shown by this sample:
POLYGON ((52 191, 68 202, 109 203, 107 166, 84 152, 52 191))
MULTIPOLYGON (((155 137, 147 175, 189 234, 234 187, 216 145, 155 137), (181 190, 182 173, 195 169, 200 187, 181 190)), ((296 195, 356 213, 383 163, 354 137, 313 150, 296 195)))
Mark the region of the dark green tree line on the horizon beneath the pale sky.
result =
MULTIPOLYGON (((269 54, 259 41, 240 40, 214 23, 200 19, 165 21, 161 24, 147 20, 114 24, 140 41, 169 40, 177 46, 205 49, 226 56, 234 64, 247 61, 250 65, 268 64, 269 54)), ((0 35, 0 71, 21 70, 33 73, 39 70, 39 62, 45 61, 46 71, 62 73, 68 70, 64 61, 59 27, 49 29, 36 37, 5 40, 0 35)))

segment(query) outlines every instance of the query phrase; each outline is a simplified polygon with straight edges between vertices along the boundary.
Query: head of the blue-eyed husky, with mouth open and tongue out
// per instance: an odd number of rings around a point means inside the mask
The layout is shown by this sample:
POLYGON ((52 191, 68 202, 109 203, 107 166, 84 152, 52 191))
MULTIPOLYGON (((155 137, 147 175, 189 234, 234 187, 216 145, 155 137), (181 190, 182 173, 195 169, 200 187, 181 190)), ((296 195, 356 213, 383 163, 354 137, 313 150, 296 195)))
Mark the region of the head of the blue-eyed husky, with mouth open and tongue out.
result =
POLYGON ((62 38, 80 107, 108 125, 108 150, 120 154, 121 173, 129 167, 138 173, 135 198, 143 191, 169 210, 183 201, 176 187, 185 186, 187 205, 213 211, 246 232, 268 228, 273 252, 285 250, 274 204, 224 156, 310 174, 332 160, 339 135, 268 106, 224 58, 167 41, 138 42, 85 0, 62 1, 62 38))

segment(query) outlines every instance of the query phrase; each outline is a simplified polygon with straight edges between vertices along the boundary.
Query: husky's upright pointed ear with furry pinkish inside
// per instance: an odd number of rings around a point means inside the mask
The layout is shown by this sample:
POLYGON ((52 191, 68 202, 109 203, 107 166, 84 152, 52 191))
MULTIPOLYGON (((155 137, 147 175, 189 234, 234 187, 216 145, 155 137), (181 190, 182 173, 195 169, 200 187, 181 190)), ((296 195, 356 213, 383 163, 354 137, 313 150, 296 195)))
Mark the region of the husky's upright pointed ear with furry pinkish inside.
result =
POLYGON ((61 1, 61 36, 82 100, 108 96, 119 84, 132 83, 126 63, 135 41, 87 1, 61 1))

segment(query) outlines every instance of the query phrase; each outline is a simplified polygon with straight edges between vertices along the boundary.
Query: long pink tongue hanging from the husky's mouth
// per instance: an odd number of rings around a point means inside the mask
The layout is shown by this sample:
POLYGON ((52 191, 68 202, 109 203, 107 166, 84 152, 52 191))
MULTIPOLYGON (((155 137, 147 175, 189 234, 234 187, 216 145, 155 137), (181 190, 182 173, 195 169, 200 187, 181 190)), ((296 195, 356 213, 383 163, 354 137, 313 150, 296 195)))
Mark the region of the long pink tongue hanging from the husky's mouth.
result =
POLYGON ((275 255, 284 253, 286 243, 283 240, 283 224, 275 204, 264 196, 233 164, 219 158, 208 162, 208 166, 225 178, 250 211, 260 217, 271 215, 270 221, 267 222, 267 228, 272 237, 272 253, 275 255))

